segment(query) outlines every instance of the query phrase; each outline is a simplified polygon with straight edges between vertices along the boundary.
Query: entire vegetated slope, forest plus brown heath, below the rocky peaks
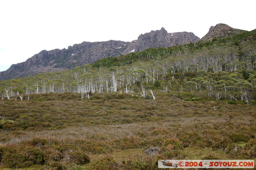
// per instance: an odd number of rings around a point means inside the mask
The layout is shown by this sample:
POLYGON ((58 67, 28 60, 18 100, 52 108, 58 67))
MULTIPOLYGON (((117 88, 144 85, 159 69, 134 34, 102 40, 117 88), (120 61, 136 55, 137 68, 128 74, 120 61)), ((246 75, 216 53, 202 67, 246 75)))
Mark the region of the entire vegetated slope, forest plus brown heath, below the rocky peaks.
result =
POLYGON ((0 81, 0 169, 256 158, 256 30, 0 81))

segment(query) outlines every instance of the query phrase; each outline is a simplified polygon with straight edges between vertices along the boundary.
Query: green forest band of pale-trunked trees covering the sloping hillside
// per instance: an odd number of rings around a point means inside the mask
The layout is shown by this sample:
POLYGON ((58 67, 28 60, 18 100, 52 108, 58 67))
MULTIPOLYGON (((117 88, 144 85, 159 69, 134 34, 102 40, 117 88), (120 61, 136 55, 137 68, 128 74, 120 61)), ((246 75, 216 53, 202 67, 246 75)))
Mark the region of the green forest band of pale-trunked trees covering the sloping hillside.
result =
POLYGON ((254 101, 255 31, 211 42, 149 48, 108 57, 72 70, 2 80, 1 98, 11 100, 39 93, 119 92, 142 94, 191 92, 216 100, 254 101))

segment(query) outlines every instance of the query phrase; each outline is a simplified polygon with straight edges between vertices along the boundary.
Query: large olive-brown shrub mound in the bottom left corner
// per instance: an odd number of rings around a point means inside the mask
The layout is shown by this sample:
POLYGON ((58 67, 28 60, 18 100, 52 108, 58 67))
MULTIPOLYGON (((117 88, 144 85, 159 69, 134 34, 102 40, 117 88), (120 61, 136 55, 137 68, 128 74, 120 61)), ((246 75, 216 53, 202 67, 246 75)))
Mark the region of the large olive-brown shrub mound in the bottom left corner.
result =
POLYGON ((3 147, 2 164, 14 168, 24 168, 32 164, 43 164, 43 152, 35 147, 8 145, 3 147))

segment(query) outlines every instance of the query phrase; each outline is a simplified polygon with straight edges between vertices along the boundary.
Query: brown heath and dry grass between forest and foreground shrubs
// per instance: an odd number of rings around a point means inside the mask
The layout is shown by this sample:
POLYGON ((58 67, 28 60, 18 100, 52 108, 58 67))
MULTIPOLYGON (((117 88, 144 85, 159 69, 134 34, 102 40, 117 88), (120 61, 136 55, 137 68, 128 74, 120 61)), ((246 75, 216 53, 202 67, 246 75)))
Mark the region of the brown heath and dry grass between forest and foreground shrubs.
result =
MULTIPOLYGON (((47 98, 35 95, 31 101, 0 101, 2 116, 16 122, 2 129, 0 144, 22 145, 33 138, 44 138, 80 147, 81 141, 98 141, 113 147, 107 156, 118 161, 135 161, 148 159, 144 148, 162 147, 164 140, 172 138, 180 140, 188 159, 218 154, 220 159, 250 157, 225 153, 223 146, 228 143, 218 142, 225 138, 239 141, 240 136, 234 137, 237 134, 256 135, 254 105, 183 101, 169 94, 156 94, 156 100, 134 99, 126 94, 93 94, 94 99, 84 101, 77 94, 73 100, 65 100, 69 95, 48 94, 44 96, 47 98), (37 101, 38 98, 43 100, 37 101), (47 100, 52 98, 55 100, 47 100)), ((106 153, 88 152, 88 155, 93 163, 106 153)))

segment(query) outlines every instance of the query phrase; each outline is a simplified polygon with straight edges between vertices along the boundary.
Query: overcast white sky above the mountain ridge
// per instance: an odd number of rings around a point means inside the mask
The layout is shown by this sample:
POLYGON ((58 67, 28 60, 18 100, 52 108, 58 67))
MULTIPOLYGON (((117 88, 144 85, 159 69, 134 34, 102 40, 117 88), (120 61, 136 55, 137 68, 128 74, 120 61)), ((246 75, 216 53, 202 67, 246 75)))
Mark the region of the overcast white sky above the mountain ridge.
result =
POLYGON ((83 41, 136 40, 164 27, 202 38, 218 23, 256 28, 255 0, 3 0, 0 2, 0 71, 42 50, 83 41))

